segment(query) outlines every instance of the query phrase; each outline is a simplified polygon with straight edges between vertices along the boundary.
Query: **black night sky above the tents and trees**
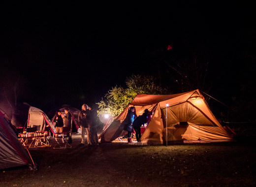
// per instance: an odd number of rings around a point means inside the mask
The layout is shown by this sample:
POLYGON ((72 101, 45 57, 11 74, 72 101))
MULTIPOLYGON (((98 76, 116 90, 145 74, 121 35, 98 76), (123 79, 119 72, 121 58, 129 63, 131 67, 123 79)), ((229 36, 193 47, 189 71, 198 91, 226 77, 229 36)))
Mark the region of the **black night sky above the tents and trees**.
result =
POLYGON ((245 2, 41 1, 1 9, 2 69, 26 79, 20 102, 44 110, 99 102, 132 73, 154 72, 156 62, 145 57, 148 50, 167 49, 168 44, 182 48, 182 40, 190 40, 223 59, 224 50, 228 56, 244 50, 241 41, 255 28, 253 6, 245 2))

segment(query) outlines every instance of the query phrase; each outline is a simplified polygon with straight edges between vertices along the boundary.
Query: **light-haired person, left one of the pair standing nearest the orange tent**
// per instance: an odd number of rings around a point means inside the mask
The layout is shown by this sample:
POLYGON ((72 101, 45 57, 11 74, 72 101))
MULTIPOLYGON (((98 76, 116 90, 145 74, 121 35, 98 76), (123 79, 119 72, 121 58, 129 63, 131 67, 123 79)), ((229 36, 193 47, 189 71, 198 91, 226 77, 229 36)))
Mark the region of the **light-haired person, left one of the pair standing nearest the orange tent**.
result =
POLYGON ((82 141, 80 145, 85 145, 85 131, 87 133, 87 144, 89 142, 89 133, 88 133, 88 127, 90 123, 90 110, 87 104, 82 105, 82 110, 79 112, 78 115, 78 123, 81 128, 82 133, 82 141))

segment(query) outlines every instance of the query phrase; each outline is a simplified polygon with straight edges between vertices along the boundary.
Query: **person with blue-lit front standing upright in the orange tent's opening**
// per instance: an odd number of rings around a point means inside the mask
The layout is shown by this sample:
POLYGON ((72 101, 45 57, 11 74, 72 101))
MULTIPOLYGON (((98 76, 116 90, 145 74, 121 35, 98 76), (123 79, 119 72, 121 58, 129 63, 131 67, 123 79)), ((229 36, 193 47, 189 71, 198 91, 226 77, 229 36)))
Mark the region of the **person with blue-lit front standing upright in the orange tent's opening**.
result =
POLYGON ((128 131, 128 134, 127 134, 128 143, 132 142, 131 141, 131 132, 133 130, 132 123, 136 117, 137 117, 137 115, 136 115, 135 107, 132 106, 128 109, 126 119, 124 120, 124 124, 125 124, 124 130, 128 131))

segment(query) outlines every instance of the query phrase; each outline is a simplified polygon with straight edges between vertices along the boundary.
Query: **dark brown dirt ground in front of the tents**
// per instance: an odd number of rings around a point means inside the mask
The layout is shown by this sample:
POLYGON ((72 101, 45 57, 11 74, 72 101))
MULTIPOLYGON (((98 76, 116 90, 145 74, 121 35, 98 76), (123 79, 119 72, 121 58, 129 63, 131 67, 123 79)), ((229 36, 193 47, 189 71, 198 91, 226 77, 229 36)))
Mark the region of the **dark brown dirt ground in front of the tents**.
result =
POLYGON ((141 146, 127 142, 30 148, 38 170, 0 170, 0 187, 256 187, 251 139, 214 144, 141 146))

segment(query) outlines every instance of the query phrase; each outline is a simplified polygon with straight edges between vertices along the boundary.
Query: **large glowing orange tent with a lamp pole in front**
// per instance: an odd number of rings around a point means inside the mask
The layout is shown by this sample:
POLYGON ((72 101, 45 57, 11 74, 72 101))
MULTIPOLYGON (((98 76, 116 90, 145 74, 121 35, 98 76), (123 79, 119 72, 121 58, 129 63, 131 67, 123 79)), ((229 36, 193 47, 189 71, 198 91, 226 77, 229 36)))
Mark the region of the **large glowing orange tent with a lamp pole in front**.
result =
POLYGON ((111 142, 125 134, 122 122, 131 106, 136 108, 138 116, 142 115, 145 109, 154 112, 141 136, 142 143, 165 144, 166 130, 167 142, 232 141, 232 137, 210 111, 203 95, 199 90, 194 90, 170 95, 138 94, 112 124, 100 134, 101 142, 111 142), (169 106, 166 107, 166 104, 169 106))

